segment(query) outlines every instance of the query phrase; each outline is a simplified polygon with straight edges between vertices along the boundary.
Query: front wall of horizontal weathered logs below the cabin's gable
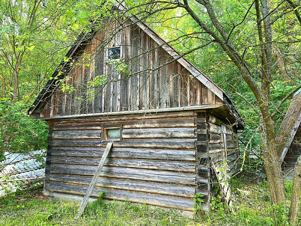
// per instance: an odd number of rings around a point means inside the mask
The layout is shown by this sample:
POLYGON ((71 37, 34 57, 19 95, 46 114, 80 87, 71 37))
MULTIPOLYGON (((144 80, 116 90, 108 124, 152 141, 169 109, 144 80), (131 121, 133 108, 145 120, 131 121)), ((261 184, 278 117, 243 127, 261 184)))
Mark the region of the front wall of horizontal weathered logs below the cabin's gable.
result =
POLYGON ((92 192, 97 197, 145 202, 193 211, 193 196, 204 195, 209 209, 208 167, 196 164, 198 131, 194 111, 54 121, 50 192, 83 195, 105 149, 101 129, 122 125, 92 192))

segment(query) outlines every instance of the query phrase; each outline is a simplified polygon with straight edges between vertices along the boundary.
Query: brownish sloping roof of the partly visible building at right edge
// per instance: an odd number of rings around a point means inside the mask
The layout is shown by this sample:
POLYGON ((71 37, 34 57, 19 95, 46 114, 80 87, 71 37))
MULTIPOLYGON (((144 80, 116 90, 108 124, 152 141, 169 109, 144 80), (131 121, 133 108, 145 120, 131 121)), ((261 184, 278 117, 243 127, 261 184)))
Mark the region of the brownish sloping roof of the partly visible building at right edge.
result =
POLYGON ((291 145, 291 142, 297 132, 301 123, 301 92, 297 92, 287 109, 281 126, 277 132, 276 138, 279 146, 280 164, 283 162, 284 157, 291 145))

